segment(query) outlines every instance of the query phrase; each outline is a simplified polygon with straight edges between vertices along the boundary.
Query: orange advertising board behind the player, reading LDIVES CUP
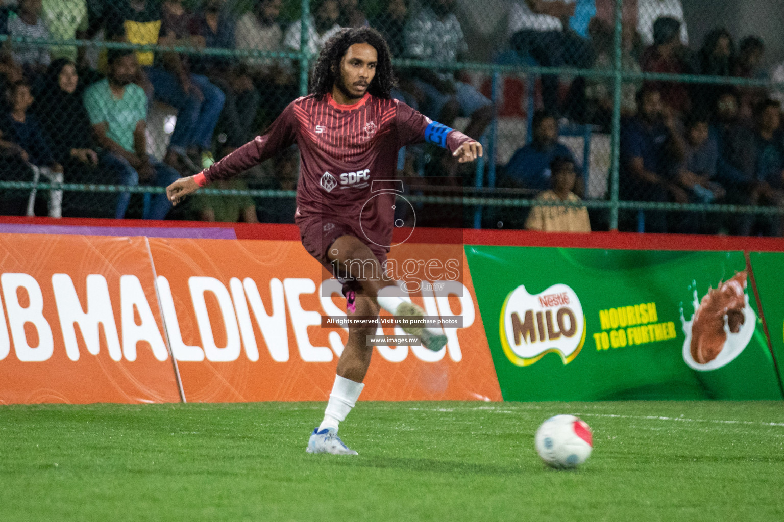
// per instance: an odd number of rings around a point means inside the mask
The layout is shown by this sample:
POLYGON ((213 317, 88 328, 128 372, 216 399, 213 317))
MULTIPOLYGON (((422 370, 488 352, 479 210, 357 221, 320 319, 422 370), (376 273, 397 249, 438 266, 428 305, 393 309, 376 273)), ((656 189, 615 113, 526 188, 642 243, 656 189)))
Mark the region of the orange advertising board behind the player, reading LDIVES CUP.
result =
MULTIPOLYGON (((345 315, 346 299, 301 243, 149 242, 187 401, 328 398, 347 329, 322 327, 321 316, 345 315)), ((406 244, 390 259, 456 253, 465 267, 462 245, 406 244)), ((501 399, 469 271, 451 283, 454 293, 436 296, 423 286, 410 297, 428 315, 461 315, 463 328, 445 329, 449 342, 440 352, 375 347, 363 400, 501 399)), ((397 330, 384 333, 402 334, 397 330)))

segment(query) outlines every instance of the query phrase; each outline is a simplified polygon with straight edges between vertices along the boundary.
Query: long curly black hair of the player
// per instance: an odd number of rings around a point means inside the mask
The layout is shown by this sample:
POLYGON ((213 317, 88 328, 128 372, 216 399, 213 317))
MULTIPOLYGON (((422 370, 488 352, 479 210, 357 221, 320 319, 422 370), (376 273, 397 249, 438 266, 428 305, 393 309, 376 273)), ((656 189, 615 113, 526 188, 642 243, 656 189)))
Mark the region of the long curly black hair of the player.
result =
POLYGON ((329 38, 310 78, 310 92, 316 99, 321 100, 328 92, 332 92, 332 86, 340 74, 340 60, 354 44, 368 44, 376 49, 379 56, 376 76, 368 85, 368 92, 377 98, 390 99, 390 92, 397 85, 392 71, 392 55, 387 41, 372 27, 347 27, 329 38))

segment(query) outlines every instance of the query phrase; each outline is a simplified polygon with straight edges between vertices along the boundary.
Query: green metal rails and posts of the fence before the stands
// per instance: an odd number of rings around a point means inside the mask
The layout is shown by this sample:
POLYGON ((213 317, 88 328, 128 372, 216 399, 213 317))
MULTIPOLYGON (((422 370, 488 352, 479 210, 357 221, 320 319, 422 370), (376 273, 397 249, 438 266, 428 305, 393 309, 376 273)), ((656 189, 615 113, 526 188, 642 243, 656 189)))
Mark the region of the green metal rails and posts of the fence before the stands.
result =
MULTIPOLYGON (((736 214, 784 214, 782 207, 754 207, 728 204, 704 204, 704 203, 656 203, 648 201, 630 201, 619 199, 619 172, 620 172, 620 129, 621 129, 621 90, 624 81, 677 81, 687 84, 707 84, 707 85, 734 85, 743 87, 764 87, 781 88, 784 84, 776 84, 772 81, 744 78, 744 77, 724 77, 724 76, 702 76, 697 74, 656 74, 641 73, 623 70, 622 63, 622 20, 621 20, 622 0, 615 0, 615 23, 614 23, 614 63, 611 70, 583 69, 575 67, 539 67, 527 64, 504 65, 497 63, 476 63, 476 62, 455 62, 455 63, 435 63, 419 59, 393 59, 396 67, 425 67, 438 68, 441 70, 473 70, 492 74, 495 81, 499 76, 521 76, 530 77, 531 75, 561 74, 571 77, 586 78, 609 78, 612 79, 613 108, 612 108, 612 131, 611 131, 611 167, 609 171, 609 199, 608 200, 583 200, 580 202, 561 202, 534 199, 521 199, 514 197, 486 197, 486 196, 426 196, 410 195, 406 199, 416 203, 444 203, 456 205, 475 205, 477 207, 537 207, 537 206, 578 206, 593 209, 604 209, 610 213, 610 228, 617 229, 620 210, 637 211, 699 211, 709 213, 736 213, 736 214)), ((96 40, 59 40, 59 39, 31 39, 16 38, 9 35, 0 35, 0 43, 9 41, 14 44, 24 44, 32 46, 73 46, 84 47, 87 49, 131 49, 134 51, 147 52, 177 52, 190 55, 204 56, 226 56, 232 58, 270 58, 296 60, 299 63, 299 93, 307 95, 308 74, 310 65, 315 56, 307 52, 307 19, 310 14, 310 4, 308 0, 301 2, 301 41, 299 52, 267 52, 252 49, 216 49, 216 48, 194 48, 191 46, 162 46, 162 45, 135 45, 118 41, 96 41, 96 40)), ((493 89, 495 96, 495 88, 493 89)), ((492 100, 494 103, 497 101, 492 100)), ((495 121, 493 122, 495 125, 495 121)), ((490 133, 488 150, 495 148, 493 133, 490 133)), ((492 156, 491 156, 492 158, 492 156)), ((587 158, 586 158, 587 162, 587 158)), ((493 163, 492 160, 489 163, 493 163)), ((494 165, 491 165, 491 169, 494 165)), ((494 172, 494 171, 493 171, 494 172)), ((489 176, 489 180, 494 182, 494 175, 489 176)), ((477 186, 481 182, 477 180, 477 186)), ((161 187, 145 185, 95 185, 83 183, 33 183, 33 182, 12 182, 0 181, 0 189, 62 189, 73 192, 96 192, 96 193, 163 193, 165 189, 161 187)), ((467 190, 467 189, 466 189, 467 190)), ((502 191, 499 191, 499 194, 502 191)), ((221 194, 227 196, 258 196, 265 198, 290 198, 296 196, 292 190, 271 190, 271 189, 200 189, 200 193, 221 194)))

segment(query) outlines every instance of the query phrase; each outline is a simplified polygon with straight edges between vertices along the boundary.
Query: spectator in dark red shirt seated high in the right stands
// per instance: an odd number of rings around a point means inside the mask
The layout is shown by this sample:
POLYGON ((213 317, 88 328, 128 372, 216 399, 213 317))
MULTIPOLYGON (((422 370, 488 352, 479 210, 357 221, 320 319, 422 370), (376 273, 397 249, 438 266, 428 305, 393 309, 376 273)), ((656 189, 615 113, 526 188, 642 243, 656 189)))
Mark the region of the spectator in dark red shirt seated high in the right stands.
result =
MULTIPOLYGON (((653 24, 653 45, 645 50, 640 60, 646 73, 685 74, 688 72, 683 59, 684 49, 678 38, 681 23, 674 18, 659 18, 653 24)), ((661 94, 662 102, 676 113, 685 113, 691 107, 686 85, 676 81, 649 81, 650 88, 661 94)))

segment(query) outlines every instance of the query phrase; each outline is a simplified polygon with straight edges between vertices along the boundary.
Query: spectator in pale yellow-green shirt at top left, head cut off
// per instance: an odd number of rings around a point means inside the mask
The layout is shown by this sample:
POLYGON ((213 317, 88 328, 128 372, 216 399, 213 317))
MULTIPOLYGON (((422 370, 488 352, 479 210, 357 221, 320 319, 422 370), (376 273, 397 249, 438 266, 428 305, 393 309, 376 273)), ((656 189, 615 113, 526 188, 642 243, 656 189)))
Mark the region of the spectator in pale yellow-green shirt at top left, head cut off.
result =
MULTIPOLYGON (((75 40, 85 38, 89 28, 87 0, 43 0, 42 19, 49 29, 49 35, 56 40, 75 40)), ((67 58, 79 63, 84 55, 84 47, 74 45, 54 45, 50 48, 52 59, 67 58)))

